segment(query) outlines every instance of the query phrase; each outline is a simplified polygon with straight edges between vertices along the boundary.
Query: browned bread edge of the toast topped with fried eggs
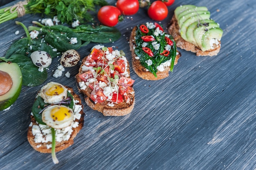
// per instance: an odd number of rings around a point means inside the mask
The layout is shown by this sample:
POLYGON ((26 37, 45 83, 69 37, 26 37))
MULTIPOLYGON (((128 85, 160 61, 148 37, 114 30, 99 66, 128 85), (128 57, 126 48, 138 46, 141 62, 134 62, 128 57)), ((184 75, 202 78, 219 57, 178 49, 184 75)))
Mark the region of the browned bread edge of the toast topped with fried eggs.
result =
MULTIPOLYGON (((81 118, 79 120, 76 119, 76 121, 79 122, 79 125, 76 128, 72 128, 73 132, 70 135, 70 139, 69 140, 61 141, 61 142, 57 142, 56 141, 55 152, 59 152, 61 150, 64 150, 64 149, 70 147, 74 143, 74 138, 76 137, 78 132, 83 128, 83 123, 84 123, 83 105, 81 103, 81 99, 80 99, 79 95, 74 93, 72 87, 67 87, 67 86, 65 86, 65 87, 68 90, 70 90, 70 93, 74 97, 74 100, 79 101, 78 103, 76 103, 76 105, 81 105, 82 106, 82 110, 79 112, 81 114, 81 118)), ((38 123, 36 122, 34 116, 31 115, 30 117, 31 117, 32 125, 38 125, 38 123)), ((47 145, 52 144, 52 142, 35 143, 35 141, 34 141, 35 136, 32 134, 32 125, 29 126, 29 129, 27 131, 27 140, 29 141, 29 144, 31 145, 31 147, 34 150, 36 150, 38 152, 41 152, 41 153, 51 153, 52 152, 52 148, 47 148, 47 145), (40 147, 37 147, 38 145, 40 145, 40 147)))

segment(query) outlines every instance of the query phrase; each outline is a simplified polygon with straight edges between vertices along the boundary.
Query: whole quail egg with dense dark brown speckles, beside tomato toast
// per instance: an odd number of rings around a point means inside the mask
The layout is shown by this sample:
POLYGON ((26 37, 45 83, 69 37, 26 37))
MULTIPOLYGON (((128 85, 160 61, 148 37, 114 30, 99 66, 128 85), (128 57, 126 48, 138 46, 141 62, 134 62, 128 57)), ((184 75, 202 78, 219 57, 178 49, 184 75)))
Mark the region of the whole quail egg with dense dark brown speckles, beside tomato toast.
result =
POLYGON ((68 49, 61 56, 63 67, 73 67, 80 61, 80 54, 74 49, 68 49))

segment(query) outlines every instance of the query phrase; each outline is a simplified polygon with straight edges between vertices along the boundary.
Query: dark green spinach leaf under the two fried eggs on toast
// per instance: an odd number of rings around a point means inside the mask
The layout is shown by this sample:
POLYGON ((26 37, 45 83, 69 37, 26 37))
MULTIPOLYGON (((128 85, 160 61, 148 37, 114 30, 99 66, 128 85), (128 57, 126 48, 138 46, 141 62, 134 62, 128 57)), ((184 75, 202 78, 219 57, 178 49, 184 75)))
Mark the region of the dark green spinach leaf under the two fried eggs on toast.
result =
MULTIPOLYGON (((74 98, 72 96, 72 94, 70 92, 67 91, 67 96, 71 97, 71 103, 69 105, 67 104, 63 104, 67 107, 70 107, 71 109, 73 109, 74 106, 74 98)), ((45 103, 44 99, 41 96, 38 96, 36 98, 36 101, 34 102, 33 106, 32 106, 32 113, 34 118, 36 119, 36 121, 39 124, 43 124, 45 125, 45 123, 42 121, 42 113, 40 113, 43 109, 45 109, 45 107, 48 107, 50 104, 49 103, 45 103)))

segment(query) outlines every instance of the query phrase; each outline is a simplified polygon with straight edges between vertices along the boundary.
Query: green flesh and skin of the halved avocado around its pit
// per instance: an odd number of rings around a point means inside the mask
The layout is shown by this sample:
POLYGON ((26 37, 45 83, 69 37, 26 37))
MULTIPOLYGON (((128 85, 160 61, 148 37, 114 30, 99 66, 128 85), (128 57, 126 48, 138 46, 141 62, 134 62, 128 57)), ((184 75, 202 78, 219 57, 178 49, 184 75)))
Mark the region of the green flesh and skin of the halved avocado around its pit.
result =
POLYGON ((11 106, 20 95, 22 87, 22 74, 20 67, 16 63, 0 63, 0 71, 6 72, 11 76, 12 86, 9 91, 0 96, 0 110, 11 106))

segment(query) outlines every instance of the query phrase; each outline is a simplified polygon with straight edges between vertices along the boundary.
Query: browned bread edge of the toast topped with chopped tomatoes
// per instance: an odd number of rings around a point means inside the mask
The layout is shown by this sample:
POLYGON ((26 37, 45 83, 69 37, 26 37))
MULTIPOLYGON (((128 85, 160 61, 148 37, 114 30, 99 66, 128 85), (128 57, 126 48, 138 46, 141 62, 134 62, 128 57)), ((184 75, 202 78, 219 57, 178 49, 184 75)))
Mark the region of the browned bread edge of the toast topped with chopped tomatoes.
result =
MULTIPOLYGON (((79 73, 76 74, 76 76, 75 76, 77 88, 78 88, 79 92, 84 95, 85 103, 89 107, 91 107, 93 110, 97 110, 97 111, 101 112, 104 116, 124 116, 126 114, 129 114, 132 111, 133 107, 134 107, 135 93, 130 94, 130 99, 131 100, 130 100, 129 103, 126 103, 126 101, 124 101, 122 103, 114 103, 114 106, 109 106, 108 101, 104 101, 104 102, 101 102, 101 103, 95 103, 94 101, 92 101, 90 99, 92 89, 90 89, 88 87, 86 89, 81 89, 80 88, 79 82, 82 82, 82 80, 79 77, 79 75, 83 73, 82 66, 84 65, 85 60, 86 60, 87 57, 88 56, 83 58, 82 65, 79 68, 79 73)), ((127 61, 127 63, 128 63, 128 61, 127 61)), ((130 75, 129 63, 128 63, 127 72, 130 75)), ((129 76, 129 78, 130 78, 130 76, 129 76)))

